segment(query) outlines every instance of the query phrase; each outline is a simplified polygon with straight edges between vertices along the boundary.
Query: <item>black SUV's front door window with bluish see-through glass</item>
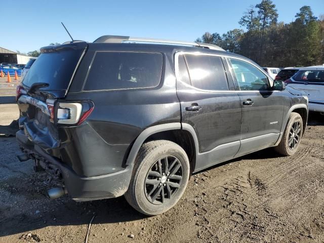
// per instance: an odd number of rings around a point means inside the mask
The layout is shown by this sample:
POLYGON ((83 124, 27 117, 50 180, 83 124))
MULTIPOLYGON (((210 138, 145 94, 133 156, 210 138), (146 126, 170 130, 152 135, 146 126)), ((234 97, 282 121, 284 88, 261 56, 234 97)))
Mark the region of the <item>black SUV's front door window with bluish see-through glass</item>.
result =
POLYGON ((267 76, 252 64, 229 58, 239 90, 268 90, 267 76))

